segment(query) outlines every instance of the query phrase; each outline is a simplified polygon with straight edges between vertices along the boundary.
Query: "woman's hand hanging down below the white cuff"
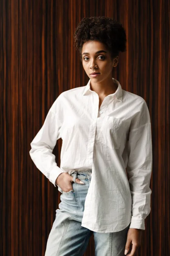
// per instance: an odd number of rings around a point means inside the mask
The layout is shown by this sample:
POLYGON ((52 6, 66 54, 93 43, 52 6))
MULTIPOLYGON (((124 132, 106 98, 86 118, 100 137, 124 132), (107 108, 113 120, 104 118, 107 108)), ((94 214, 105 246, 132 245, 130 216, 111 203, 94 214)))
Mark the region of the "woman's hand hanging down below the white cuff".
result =
POLYGON ((136 228, 130 228, 127 232, 127 242, 125 246, 125 255, 134 256, 141 245, 142 230, 136 228), (132 246, 132 250, 127 254, 132 246))

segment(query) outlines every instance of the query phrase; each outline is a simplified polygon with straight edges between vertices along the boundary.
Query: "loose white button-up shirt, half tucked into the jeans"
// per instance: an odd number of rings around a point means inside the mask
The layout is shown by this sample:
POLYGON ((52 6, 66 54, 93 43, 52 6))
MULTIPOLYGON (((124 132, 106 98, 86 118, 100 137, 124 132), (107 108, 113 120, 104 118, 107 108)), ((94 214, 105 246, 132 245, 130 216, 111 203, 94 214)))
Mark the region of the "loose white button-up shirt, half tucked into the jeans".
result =
MULTIPOLYGON (((29 152, 54 186, 62 172, 92 170, 81 225, 100 233, 117 232, 129 224, 144 230, 150 213, 150 114, 142 97, 122 90, 113 80, 117 90, 104 98, 100 109, 91 79, 86 86, 62 92, 29 152), (52 153, 59 138, 60 167, 52 153)), ((59 186, 58 190, 62 193, 59 186)))

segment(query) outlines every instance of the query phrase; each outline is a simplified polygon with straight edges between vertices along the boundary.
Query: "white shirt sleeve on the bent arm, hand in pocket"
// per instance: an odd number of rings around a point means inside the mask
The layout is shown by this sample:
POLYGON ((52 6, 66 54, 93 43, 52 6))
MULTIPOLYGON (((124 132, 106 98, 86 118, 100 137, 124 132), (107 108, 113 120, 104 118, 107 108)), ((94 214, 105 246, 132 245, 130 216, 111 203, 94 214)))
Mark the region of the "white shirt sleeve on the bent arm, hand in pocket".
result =
POLYGON ((42 128, 32 140, 29 151, 34 164, 55 187, 55 181, 63 171, 57 166, 52 151, 57 140, 61 137, 62 116, 58 97, 48 111, 42 128))

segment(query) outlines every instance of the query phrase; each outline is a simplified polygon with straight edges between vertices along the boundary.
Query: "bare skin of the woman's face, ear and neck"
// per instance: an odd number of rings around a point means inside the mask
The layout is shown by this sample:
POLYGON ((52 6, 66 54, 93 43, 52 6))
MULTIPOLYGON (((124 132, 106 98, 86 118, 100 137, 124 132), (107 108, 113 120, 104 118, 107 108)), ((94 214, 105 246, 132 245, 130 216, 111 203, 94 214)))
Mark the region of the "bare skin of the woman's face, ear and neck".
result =
POLYGON ((82 46, 82 66, 85 73, 91 79, 91 90, 99 96, 107 96, 114 93, 117 89, 113 83, 112 70, 119 62, 119 56, 111 59, 111 54, 104 44, 99 41, 87 41, 82 46), (105 52, 97 53, 104 50, 105 52), (88 52, 89 54, 83 54, 88 52), (99 72, 100 75, 92 77, 90 73, 99 72))

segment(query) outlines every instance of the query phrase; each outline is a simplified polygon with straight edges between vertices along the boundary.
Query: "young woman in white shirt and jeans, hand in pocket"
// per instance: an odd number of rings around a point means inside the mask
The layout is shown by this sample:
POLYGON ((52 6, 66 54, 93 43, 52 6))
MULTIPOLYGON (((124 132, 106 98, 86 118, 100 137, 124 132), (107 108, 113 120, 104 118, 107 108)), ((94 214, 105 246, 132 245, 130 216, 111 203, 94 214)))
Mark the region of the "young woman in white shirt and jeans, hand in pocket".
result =
POLYGON ((61 93, 31 142, 30 156, 62 193, 45 256, 134 256, 150 213, 152 140, 144 99, 112 78, 125 29, 108 17, 83 18, 74 46, 88 84, 61 93), (52 154, 62 138, 60 167, 52 154))

